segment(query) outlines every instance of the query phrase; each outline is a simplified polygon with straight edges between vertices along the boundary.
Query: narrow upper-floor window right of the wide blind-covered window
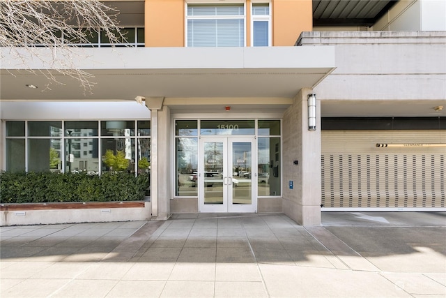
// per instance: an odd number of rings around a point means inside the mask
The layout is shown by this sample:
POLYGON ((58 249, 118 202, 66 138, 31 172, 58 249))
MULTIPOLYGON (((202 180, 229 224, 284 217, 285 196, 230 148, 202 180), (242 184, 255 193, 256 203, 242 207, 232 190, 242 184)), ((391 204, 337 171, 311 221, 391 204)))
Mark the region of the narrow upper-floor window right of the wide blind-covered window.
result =
POLYGON ((270 4, 252 3, 252 46, 268 47, 270 43, 270 4))

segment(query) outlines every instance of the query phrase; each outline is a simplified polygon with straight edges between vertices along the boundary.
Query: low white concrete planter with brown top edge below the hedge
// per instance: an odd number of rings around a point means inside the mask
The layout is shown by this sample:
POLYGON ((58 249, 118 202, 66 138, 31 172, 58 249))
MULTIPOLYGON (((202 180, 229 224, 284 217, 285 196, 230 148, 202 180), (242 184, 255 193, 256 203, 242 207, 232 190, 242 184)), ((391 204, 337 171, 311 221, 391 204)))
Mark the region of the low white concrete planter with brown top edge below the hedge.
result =
POLYGON ((1 204, 0 225, 149 221, 151 202, 1 204))

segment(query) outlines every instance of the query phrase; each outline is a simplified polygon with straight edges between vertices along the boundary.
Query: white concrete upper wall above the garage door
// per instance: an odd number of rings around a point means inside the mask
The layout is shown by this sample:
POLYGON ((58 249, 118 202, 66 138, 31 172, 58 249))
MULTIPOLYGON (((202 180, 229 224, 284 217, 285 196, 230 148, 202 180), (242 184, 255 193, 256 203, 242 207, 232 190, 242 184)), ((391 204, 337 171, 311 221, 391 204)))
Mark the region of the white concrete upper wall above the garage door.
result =
POLYGON ((300 44, 336 47, 318 99, 446 99, 446 31, 305 32, 300 44))

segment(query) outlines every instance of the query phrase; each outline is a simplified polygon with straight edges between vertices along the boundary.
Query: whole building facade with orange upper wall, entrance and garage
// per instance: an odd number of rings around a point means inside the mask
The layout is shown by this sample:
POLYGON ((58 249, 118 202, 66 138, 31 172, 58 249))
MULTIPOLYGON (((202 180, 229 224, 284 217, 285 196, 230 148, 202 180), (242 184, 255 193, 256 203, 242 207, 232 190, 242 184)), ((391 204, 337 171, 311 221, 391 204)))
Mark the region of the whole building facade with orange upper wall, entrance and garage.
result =
POLYGON ((132 46, 76 48, 93 94, 42 91, 1 48, 1 169, 101 174, 123 151, 161 219, 444 211, 446 3, 330 2, 110 1, 132 46))

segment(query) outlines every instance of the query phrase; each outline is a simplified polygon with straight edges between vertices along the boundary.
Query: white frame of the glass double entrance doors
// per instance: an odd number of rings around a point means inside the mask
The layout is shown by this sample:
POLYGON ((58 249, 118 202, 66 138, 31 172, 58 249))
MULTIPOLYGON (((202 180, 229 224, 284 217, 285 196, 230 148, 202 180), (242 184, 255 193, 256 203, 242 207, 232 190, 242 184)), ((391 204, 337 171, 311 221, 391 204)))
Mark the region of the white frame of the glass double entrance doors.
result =
MULTIPOLYGON (((257 212, 257 142, 255 136, 202 136, 199 137, 198 149, 198 209, 199 212, 227 213, 227 212, 257 212), (222 204, 204 204, 205 195, 205 171, 204 171, 204 143, 222 142, 223 143, 223 173, 222 173, 222 204), (233 193, 235 191, 233 184, 233 143, 250 142, 251 143, 251 204, 233 204, 233 193), (229 181, 229 182, 228 182, 229 181)), ((220 180, 219 180, 220 182, 220 180)))

